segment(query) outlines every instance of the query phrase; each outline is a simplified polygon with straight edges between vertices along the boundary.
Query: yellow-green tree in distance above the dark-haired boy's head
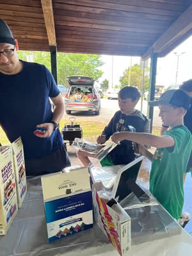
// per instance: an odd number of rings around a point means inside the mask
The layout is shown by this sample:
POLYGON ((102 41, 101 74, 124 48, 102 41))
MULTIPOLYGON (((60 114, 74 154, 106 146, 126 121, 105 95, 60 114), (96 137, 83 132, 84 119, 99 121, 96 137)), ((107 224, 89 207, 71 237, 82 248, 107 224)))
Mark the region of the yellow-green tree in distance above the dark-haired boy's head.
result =
MULTIPOLYGON (((120 77, 120 88, 128 86, 130 77, 130 86, 137 87, 138 90, 141 90, 142 86, 142 77, 143 77, 143 69, 140 68, 140 65, 135 64, 131 67, 131 72, 129 72, 129 68, 126 68, 122 77, 120 77), (129 76, 130 73, 130 76, 129 76)), ((143 90, 144 92, 148 90, 148 82, 149 82, 149 68, 145 69, 144 76, 144 84, 143 90)))

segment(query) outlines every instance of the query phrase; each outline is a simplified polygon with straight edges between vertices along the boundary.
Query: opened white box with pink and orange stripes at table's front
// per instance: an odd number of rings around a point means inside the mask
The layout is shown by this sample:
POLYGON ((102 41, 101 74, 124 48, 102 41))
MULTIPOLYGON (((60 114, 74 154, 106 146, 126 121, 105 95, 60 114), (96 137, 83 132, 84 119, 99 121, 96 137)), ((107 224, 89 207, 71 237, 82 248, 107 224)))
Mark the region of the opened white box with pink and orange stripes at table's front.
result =
POLYGON ((131 218, 114 199, 107 202, 93 191, 93 209, 97 225, 121 256, 131 248, 131 218), (109 204, 111 203, 111 204, 109 204), (109 205, 111 206, 109 206, 109 205))

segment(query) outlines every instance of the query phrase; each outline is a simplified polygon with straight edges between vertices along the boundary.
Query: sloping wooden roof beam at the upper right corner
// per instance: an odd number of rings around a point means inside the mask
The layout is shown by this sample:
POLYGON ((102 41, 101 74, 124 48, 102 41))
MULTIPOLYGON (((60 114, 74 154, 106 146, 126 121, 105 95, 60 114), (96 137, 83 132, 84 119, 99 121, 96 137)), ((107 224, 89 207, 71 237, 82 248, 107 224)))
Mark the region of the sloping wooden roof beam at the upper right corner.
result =
MULTIPOLYGON (((175 20, 175 22, 168 28, 162 36, 148 49, 145 54, 143 54, 143 60, 146 60, 150 56, 150 52, 161 54, 161 52, 166 51, 170 45, 174 42, 179 42, 179 38, 182 38, 188 31, 192 28, 192 4, 188 9, 180 15, 180 17, 175 20)), ((176 44, 174 47, 177 47, 176 44)))

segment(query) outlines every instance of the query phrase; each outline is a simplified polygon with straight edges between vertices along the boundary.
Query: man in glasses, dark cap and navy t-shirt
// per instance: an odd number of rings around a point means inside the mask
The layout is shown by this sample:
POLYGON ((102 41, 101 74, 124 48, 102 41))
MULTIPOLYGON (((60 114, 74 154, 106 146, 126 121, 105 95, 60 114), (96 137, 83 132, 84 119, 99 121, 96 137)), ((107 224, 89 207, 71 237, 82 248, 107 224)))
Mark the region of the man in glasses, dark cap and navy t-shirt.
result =
POLYGON ((70 166, 58 129, 65 108, 60 90, 44 65, 19 60, 18 50, 12 31, 0 19, 0 125, 11 143, 21 137, 26 175, 59 172, 70 166))

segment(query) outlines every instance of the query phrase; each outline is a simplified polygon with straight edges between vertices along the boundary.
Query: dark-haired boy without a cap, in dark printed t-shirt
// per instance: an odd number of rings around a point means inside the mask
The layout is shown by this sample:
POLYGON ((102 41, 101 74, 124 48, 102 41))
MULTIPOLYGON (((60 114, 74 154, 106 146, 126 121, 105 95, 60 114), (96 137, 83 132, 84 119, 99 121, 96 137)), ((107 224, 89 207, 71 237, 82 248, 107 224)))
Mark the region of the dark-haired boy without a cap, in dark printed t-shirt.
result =
MULTIPOLYGON (((118 105, 120 111, 117 111, 109 124, 104 128, 102 134, 97 138, 98 144, 104 144, 114 132, 129 131, 129 125, 136 129, 136 132, 143 132, 147 118, 135 109, 140 92, 137 88, 126 86, 118 93, 118 105)), ((77 156, 84 166, 91 164, 88 157, 95 157, 94 154, 88 154, 82 150, 78 150, 77 156)), ((131 141, 122 141, 120 145, 115 147, 102 161, 102 166, 112 166, 115 164, 128 164, 135 158, 131 141)))

